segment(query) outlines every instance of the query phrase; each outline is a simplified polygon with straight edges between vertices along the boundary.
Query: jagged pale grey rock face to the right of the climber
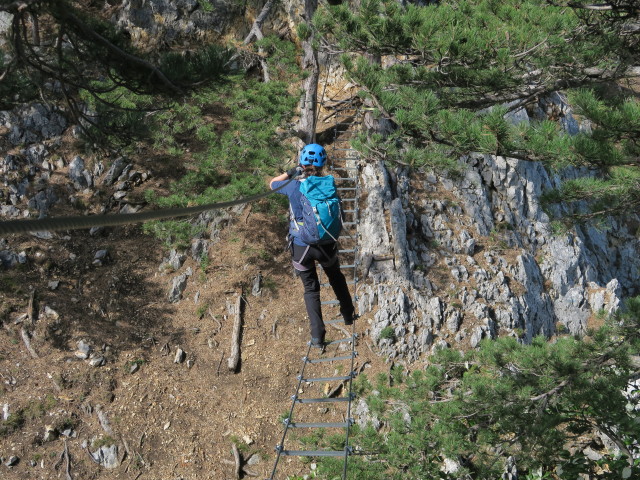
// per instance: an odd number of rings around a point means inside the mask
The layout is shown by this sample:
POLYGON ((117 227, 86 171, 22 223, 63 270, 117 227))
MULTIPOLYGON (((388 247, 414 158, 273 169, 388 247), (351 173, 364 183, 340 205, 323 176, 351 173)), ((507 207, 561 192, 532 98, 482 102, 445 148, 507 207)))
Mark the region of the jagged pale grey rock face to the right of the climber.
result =
MULTIPOLYGON (((567 128, 579 128, 562 108, 567 128)), ((496 335, 583 334, 640 293, 637 214, 551 229, 541 193, 581 172, 551 175, 540 163, 493 155, 460 162, 459 180, 381 163, 362 169, 359 234, 373 283, 358 302, 375 312, 371 333, 389 357, 413 361, 496 335)))

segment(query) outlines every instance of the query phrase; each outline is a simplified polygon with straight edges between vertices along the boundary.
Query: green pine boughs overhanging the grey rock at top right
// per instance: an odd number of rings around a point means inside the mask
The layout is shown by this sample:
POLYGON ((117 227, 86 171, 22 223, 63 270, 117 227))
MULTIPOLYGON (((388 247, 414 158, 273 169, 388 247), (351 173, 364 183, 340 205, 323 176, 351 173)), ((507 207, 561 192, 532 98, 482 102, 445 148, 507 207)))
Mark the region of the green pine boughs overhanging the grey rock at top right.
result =
POLYGON ((587 200, 589 210, 575 218, 640 206, 640 106, 620 87, 638 73, 637 2, 425 3, 366 0, 315 16, 324 48, 342 52, 379 118, 394 126, 364 139, 365 155, 440 170, 470 152, 556 170, 589 166, 597 175, 547 199, 587 200), (590 133, 569 136, 553 119, 526 126, 505 119, 558 90, 591 121, 590 133))

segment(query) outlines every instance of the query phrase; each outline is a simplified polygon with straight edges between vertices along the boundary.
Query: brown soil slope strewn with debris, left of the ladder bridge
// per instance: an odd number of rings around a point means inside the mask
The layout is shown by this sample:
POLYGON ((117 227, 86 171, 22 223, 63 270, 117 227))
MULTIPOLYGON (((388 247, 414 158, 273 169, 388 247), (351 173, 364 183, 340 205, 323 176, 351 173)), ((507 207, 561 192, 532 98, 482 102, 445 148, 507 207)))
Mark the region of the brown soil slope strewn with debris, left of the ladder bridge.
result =
MULTIPOLYGON (((161 162, 143 167, 157 187, 168 183, 171 171, 163 171, 161 162)), ((92 199, 84 201, 90 206, 92 199)), ((56 208, 52 216, 78 214, 56 208)), ((234 479, 233 444, 245 461, 257 454, 259 462, 247 468, 256 478, 269 478, 309 326, 302 285, 284 249, 286 223, 263 210, 247 206, 222 230, 208 262, 189 258, 178 272, 159 270, 167 250, 139 225, 109 228, 97 237, 77 230, 51 240, 7 238, 30 261, 0 272, 0 409, 6 405, 10 414, 6 421, 0 417, 0 478, 67 478, 68 471, 70 478, 85 480, 234 479), (95 252, 104 248, 108 261, 94 265, 95 252), (172 278, 189 267, 183 299, 169 303, 172 278), (258 273, 263 288, 254 296, 258 273), (54 280, 55 288, 49 283, 54 280), (34 291, 30 323, 23 314, 34 291), (241 362, 232 372, 227 358, 241 292, 241 362), (46 314, 46 307, 57 315, 46 314), (80 340, 106 363, 94 367, 78 358, 80 340), (186 354, 182 363, 174 362, 178 348, 186 354), (71 437, 63 435, 68 428, 71 437), (119 467, 93 461, 90 451, 101 444, 118 445, 119 467), (12 456, 19 461, 8 467, 12 456)), ((323 289, 323 299, 330 298, 323 289)), ((338 316, 335 307, 325 306, 324 313, 338 316)), ((362 333, 366 324, 366 318, 358 320, 355 331, 362 333)), ((329 326, 327 336, 345 333, 329 326)), ((388 369, 366 335, 359 343, 356 368, 388 369)), ((331 347, 325 355, 339 350, 331 347)), ((349 366, 316 368, 307 375, 344 375, 349 366)), ((321 397, 336 386, 303 384, 303 390, 321 397)), ((305 421, 338 421, 346 414, 344 408, 311 408, 305 421)), ((283 458, 275 478, 309 471, 308 462, 283 458)))

